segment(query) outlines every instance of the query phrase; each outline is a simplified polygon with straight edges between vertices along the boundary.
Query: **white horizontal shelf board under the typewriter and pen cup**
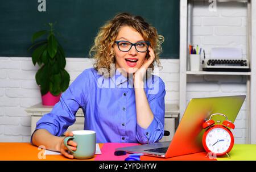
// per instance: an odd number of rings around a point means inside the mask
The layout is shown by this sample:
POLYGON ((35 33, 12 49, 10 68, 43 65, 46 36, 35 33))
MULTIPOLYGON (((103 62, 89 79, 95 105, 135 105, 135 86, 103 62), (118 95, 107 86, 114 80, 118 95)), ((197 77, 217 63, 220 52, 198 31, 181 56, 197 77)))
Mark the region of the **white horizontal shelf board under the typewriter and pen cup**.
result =
POLYGON ((207 72, 207 71, 187 71, 190 75, 251 75, 250 72, 207 72))

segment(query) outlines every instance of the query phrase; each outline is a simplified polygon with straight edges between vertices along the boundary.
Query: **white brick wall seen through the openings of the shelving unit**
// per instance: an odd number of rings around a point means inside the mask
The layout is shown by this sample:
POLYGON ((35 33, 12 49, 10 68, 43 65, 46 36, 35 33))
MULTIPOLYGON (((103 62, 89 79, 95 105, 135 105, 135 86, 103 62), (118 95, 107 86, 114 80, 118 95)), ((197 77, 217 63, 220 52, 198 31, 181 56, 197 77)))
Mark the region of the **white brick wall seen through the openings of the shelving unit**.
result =
MULTIPOLYGON (((205 49, 207 57, 213 47, 242 48, 246 57, 245 3, 217 2, 217 11, 208 10, 208 1, 194 1, 192 14, 192 43, 205 49)), ((187 102, 194 97, 214 97, 246 94, 246 77, 234 75, 188 75, 187 102)), ((246 103, 235 121, 235 142, 246 143, 246 103)))

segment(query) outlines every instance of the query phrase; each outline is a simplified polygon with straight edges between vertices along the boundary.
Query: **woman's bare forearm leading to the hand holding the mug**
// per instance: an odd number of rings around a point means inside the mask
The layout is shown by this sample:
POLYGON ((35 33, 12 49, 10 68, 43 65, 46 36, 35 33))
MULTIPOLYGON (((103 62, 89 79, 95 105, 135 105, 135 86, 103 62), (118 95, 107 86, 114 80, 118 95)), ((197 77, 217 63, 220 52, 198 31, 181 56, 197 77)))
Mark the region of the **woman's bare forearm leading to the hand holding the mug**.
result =
POLYGON ((60 151, 61 137, 53 136, 46 129, 38 129, 32 137, 36 146, 44 146, 48 150, 60 151))

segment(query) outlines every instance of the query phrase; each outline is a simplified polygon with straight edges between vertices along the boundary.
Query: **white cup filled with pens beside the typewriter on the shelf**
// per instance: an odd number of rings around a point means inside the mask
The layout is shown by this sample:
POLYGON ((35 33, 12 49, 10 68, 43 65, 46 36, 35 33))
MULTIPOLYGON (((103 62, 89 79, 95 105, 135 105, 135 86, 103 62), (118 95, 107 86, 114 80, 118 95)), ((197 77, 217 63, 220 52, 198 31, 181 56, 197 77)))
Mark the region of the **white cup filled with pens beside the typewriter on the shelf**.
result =
POLYGON ((190 70, 191 71, 200 71, 200 64, 201 64, 201 50, 197 45, 194 48, 193 45, 189 45, 189 60, 190 60, 190 70))

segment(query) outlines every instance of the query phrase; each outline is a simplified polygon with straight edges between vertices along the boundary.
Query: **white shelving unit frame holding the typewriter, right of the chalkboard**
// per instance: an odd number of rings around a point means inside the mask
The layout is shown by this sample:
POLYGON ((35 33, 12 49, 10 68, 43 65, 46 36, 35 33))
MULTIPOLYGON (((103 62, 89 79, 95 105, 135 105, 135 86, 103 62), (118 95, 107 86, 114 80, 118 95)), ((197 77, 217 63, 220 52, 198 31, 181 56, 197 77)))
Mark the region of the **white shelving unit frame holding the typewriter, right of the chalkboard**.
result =
MULTIPOLYGON (((197 0, 206 1, 206 0, 197 0)), ((218 0, 220 1, 220 0, 218 0)), ((245 0, 225 0, 245 2, 245 0)), ((207 1, 208 2, 208 1, 207 1)), ((180 0, 180 119, 187 107, 188 75, 245 75, 246 76, 246 142, 256 144, 256 1, 247 1, 247 59, 251 72, 191 72, 188 69, 188 45, 192 43, 192 0, 180 0)))

